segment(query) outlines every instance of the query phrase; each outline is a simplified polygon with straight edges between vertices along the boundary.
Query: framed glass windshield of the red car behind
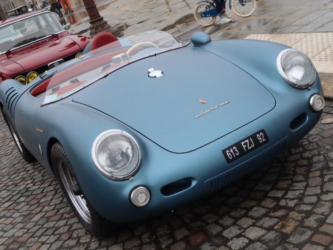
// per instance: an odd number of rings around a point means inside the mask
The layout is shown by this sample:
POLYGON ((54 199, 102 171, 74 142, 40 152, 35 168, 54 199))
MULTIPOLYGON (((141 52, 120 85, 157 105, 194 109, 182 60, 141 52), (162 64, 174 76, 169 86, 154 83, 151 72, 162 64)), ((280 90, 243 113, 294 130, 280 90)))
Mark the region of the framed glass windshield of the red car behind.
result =
POLYGON ((61 31, 64 27, 50 12, 4 25, 0 27, 0 53, 61 31))

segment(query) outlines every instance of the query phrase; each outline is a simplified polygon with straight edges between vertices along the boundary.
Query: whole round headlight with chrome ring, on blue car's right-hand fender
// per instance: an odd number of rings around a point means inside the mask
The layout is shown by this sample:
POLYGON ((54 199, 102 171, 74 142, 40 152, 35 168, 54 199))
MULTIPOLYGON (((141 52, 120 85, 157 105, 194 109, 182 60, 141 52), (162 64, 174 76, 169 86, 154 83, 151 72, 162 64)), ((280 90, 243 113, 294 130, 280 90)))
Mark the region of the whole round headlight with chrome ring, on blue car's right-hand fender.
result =
POLYGON ((277 57, 277 67, 282 78, 295 88, 309 88, 316 77, 311 60, 299 50, 282 50, 277 57))

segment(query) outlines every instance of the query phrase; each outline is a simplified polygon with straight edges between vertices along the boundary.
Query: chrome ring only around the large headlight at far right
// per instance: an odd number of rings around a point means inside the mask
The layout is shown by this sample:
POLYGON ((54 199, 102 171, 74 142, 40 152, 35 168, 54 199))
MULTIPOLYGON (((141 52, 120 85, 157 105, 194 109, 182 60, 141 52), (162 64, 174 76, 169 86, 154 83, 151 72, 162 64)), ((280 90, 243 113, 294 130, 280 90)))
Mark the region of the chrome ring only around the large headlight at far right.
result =
POLYGON ((301 53, 301 54, 304 54, 303 52, 299 51, 299 50, 296 50, 296 49, 285 49, 285 50, 282 50, 279 54, 278 54, 278 57, 276 58, 276 66, 278 68, 278 71, 279 71, 279 74, 281 75, 281 77, 285 80, 286 83, 288 83, 290 86, 294 87, 294 88, 297 88, 297 89, 309 89, 311 88, 311 86, 313 85, 315 79, 316 79, 316 69, 312 63, 312 61, 310 60, 310 58, 306 55, 306 57, 308 58, 309 62, 311 63, 313 69, 314 69, 314 74, 313 74, 313 79, 307 84, 307 85, 299 85, 297 84, 296 82, 293 82, 292 80, 290 80, 288 78, 287 75, 285 75, 285 71, 283 70, 282 68, 282 57, 283 55, 286 53, 286 52, 289 52, 289 51, 295 51, 295 52, 298 52, 298 53, 301 53))

